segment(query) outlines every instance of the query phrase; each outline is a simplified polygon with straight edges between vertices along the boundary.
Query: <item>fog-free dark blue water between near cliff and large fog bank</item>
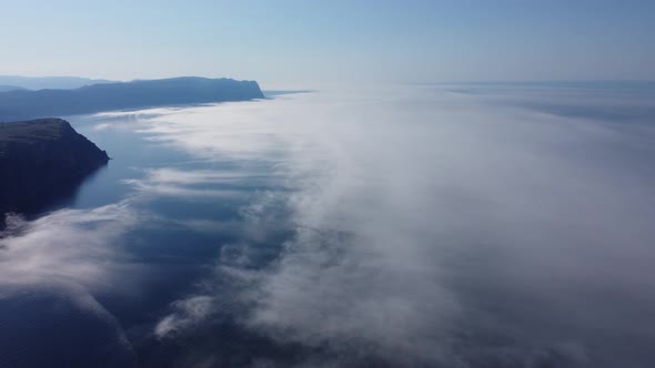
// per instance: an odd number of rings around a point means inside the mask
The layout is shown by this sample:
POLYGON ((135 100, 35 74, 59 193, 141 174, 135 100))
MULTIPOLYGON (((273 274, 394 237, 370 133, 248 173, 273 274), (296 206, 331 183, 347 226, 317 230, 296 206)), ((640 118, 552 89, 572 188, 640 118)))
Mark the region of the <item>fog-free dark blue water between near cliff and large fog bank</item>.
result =
MULTIPOLYGON (((13 294, 0 304, 4 316, 0 319, 3 349, 0 366, 173 365, 180 347, 171 340, 162 343, 152 334, 158 320, 170 313, 171 303, 192 294, 198 282, 211 276, 225 245, 239 253, 239 244, 248 242, 260 248, 255 264, 265 265, 290 235, 283 218, 278 228, 266 233, 265 239, 254 241, 243 228, 243 209, 249 203, 262 193, 286 191, 273 174, 275 157, 261 161, 234 160, 229 155, 199 159, 184 150, 150 141, 153 134, 139 132, 142 125, 133 121, 131 114, 118 119, 70 116, 68 120, 112 160, 91 174, 72 197, 63 198, 36 217, 50 218, 60 209, 79 211, 84 216, 94 208, 115 204, 124 204, 131 213, 139 213, 138 218, 128 224, 128 229, 120 229, 121 233, 105 245, 120 253, 120 264, 128 277, 112 269, 103 276, 107 277, 103 283, 115 285, 87 287, 78 285, 75 279, 72 283, 53 279, 52 285, 37 282, 6 288, 4 293, 13 294), (107 122, 120 127, 98 129, 107 122), (147 180, 149 172, 157 170, 210 173, 210 176, 214 173, 224 178, 184 182, 184 190, 196 191, 198 195, 151 193, 130 183, 147 180), (90 301, 80 306, 79 298, 90 301)), ((104 221, 120 222, 120 218, 110 215, 104 221)), ((97 224, 91 221, 82 226, 97 224)), ((80 282, 84 284, 83 279, 80 282)), ((258 339, 232 321, 223 323, 222 328, 199 336, 208 341, 225 335, 258 339)), ((255 346, 256 341, 253 344, 255 346)), ((242 364, 249 362, 250 358, 243 352, 236 355, 241 355, 236 359, 242 364)))

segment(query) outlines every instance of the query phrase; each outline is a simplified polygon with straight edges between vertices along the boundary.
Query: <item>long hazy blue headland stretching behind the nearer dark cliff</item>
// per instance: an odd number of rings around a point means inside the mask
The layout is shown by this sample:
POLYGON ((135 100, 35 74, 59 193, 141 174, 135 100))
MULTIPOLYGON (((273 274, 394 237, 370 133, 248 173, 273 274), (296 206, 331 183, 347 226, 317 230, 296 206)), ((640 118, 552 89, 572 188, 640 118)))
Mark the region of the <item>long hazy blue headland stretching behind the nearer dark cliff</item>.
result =
POLYGON ((0 92, 0 121, 263 98, 254 81, 198 76, 103 83, 75 90, 9 91, 0 92))

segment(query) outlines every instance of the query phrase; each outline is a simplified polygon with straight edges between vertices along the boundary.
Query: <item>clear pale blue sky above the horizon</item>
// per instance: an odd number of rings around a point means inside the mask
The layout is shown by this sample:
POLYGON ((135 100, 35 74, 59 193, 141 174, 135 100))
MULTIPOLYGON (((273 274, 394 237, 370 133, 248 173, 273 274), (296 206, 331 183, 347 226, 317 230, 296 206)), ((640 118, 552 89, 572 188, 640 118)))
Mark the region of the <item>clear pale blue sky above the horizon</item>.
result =
POLYGON ((655 80, 655 1, 0 0, 0 74, 655 80))

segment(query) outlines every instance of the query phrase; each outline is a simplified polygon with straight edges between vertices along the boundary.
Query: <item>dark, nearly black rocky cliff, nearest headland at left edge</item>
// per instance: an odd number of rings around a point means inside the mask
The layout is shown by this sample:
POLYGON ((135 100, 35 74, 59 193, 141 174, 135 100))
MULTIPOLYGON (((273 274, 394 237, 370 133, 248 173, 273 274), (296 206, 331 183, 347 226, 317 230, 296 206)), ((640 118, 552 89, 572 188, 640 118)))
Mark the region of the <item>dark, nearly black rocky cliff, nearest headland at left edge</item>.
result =
POLYGON ((0 124, 0 216, 56 202, 108 161, 64 120, 0 124))

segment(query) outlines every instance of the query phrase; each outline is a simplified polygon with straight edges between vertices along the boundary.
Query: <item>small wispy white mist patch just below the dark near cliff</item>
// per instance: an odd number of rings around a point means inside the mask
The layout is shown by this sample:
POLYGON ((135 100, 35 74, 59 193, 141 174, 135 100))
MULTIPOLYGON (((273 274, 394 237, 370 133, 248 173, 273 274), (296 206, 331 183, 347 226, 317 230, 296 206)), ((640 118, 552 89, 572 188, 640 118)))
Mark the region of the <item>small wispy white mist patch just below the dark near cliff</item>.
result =
POLYGON ((9 215, 0 237, 3 280, 71 282, 89 287, 111 284, 108 273, 121 266, 121 236, 139 215, 127 202, 92 209, 60 209, 27 222, 9 215))

